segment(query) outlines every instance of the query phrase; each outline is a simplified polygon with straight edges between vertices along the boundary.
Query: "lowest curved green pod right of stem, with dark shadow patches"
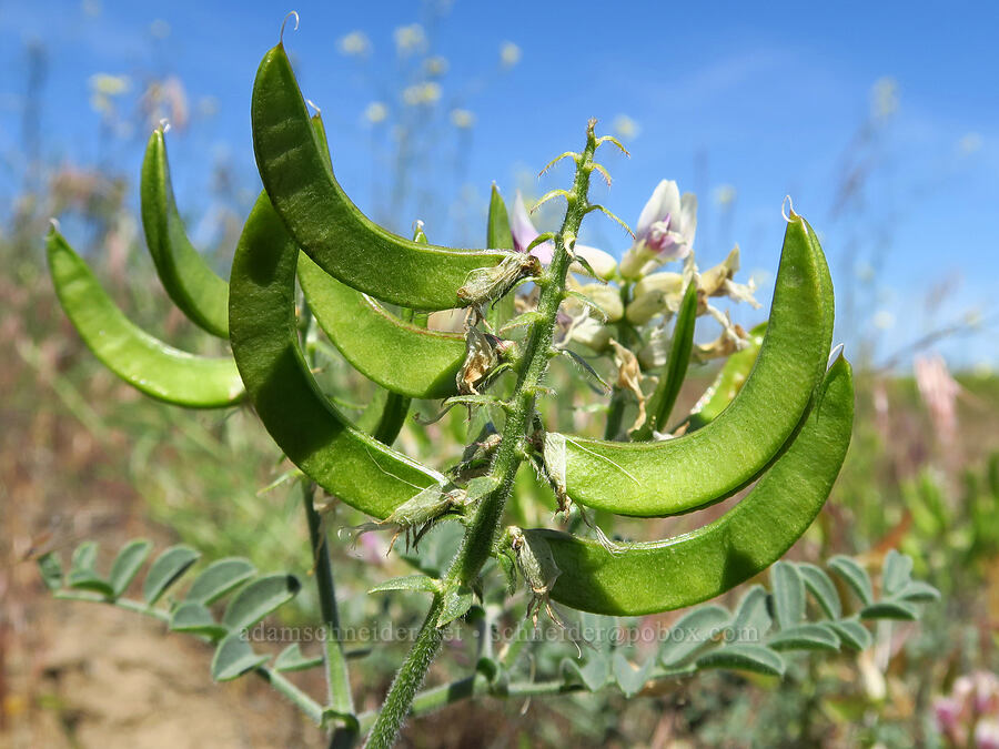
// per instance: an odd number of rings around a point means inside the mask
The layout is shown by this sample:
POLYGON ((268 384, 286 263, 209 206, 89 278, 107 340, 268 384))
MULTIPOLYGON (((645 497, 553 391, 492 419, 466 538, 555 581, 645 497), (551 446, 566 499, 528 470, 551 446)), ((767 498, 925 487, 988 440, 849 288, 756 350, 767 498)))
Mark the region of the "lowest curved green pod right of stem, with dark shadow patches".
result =
POLYGON ((664 541, 599 543, 556 530, 527 530, 547 541, 561 570, 549 593, 566 606, 638 616, 698 604, 779 559, 805 533, 829 495, 850 443, 854 384, 840 357, 816 393, 795 441, 731 510, 664 541))

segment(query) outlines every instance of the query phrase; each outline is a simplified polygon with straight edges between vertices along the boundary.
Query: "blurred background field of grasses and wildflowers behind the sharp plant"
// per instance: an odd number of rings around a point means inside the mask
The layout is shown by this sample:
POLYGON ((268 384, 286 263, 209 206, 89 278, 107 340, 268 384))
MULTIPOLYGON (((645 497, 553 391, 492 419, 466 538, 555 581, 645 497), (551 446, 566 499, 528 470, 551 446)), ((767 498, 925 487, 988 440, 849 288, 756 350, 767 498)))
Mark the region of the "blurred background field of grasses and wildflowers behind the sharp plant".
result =
MULTIPOLYGON (((84 11, 100 9, 84 3, 84 11)), ((433 217, 427 227, 432 240, 481 244, 490 185, 470 181, 482 118, 470 102, 484 99, 490 87, 502 90, 503 77, 522 64, 524 50, 511 27, 504 34, 512 41, 496 49, 478 50, 478 57, 470 52, 470 59, 445 58, 436 33, 448 12, 447 4, 424 3, 417 22, 411 21, 413 13, 400 11, 385 39, 330 29, 329 53, 335 49, 345 55, 345 64, 356 67, 357 85, 369 90, 366 103, 335 113, 333 122, 354 118, 366 128, 371 199, 365 208, 374 217, 401 233, 415 219, 433 217), (387 71, 365 69, 375 44, 395 55, 387 71), (468 67, 485 72, 452 90, 448 70, 468 67)), ((143 43, 164 49, 170 29, 163 24, 153 20, 143 43)), ((182 412, 129 389, 82 346, 54 300, 44 267, 41 237, 49 219, 58 216, 137 323, 180 347, 211 353, 205 346, 215 344, 196 335, 158 285, 137 224, 138 168, 124 169, 115 154, 128 151, 138 163, 148 132, 163 118, 172 133, 210 130, 204 123, 216 117, 219 101, 192 97, 168 63, 140 64, 124 73, 83 71, 97 117, 77 125, 81 131, 95 128, 98 145, 92 158, 75 159, 71 151, 50 148, 43 125, 52 117, 43 108, 56 105, 47 92, 51 52, 44 39, 4 51, 13 63, 4 75, 17 102, 7 108, 3 122, 11 126, 0 141, 7 150, 0 153, 6 165, 0 193, 0 340, 6 344, 0 367, 0 745, 313 743, 317 737, 311 729, 269 701, 266 692, 242 684, 212 687, 206 650, 163 638, 155 628, 137 632, 138 625, 109 624, 104 611, 80 613, 81 605, 48 600, 30 561, 82 537, 101 540, 110 555, 125 538, 145 535, 161 544, 183 540, 206 558, 248 556, 260 569, 291 569, 303 578, 312 567, 297 497, 289 484, 263 488, 287 466, 253 414, 246 408, 182 412), (162 649, 170 657, 164 656, 151 681, 142 680, 133 672, 134 652, 122 642, 137 650, 162 649), (98 651, 110 666, 98 665, 98 651), (238 710, 236 698, 250 700, 254 718, 226 716, 238 710), (123 707, 109 708, 109 702, 123 707), (154 710, 158 705, 168 707, 154 710), (152 712, 159 713, 155 720, 152 712), (205 733, 199 739, 196 730, 205 733)), ((944 593, 944 601, 930 607, 919 626, 881 623, 874 651, 815 662, 803 658, 783 681, 717 674, 630 700, 605 692, 463 704, 413 722, 404 739, 408 746, 999 746, 999 685, 992 676, 999 669, 999 377, 996 361, 968 351, 981 336, 995 334, 995 296, 991 312, 965 303, 956 276, 946 271, 956 266, 975 274, 976 261, 945 246, 948 217, 940 214, 939 233, 930 239, 948 262, 938 265, 944 272, 907 289, 904 297, 905 314, 917 320, 915 328, 905 330, 915 334, 892 334, 889 317, 896 313, 878 305, 892 230, 865 206, 872 192, 880 200, 885 190, 895 189, 904 201, 915 189, 890 179, 886 156, 892 153, 891 121, 900 91, 891 78, 879 79, 870 92, 857 91, 859 100, 870 94, 870 110, 839 133, 834 199, 825 219, 814 220, 820 229, 825 221, 841 240, 841 246, 830 247, 828 239, 826 245, 837 257, 838 335, 847 338, 858 367, 857 421, 838 485, 791 558, 820 561, 845 553, 877 565, 888 549, 899 548, 915 558, 916 574, 944 593), (949 363, 939 351, 951 354, 949 363)), ((502 108, 502 100, 491 107, 502 108)), ((582 121, 576 124, 559 133, 565 148, 582 133, 582 121)), ((626 142, 637 139, 643 126, 624 114, 606 124, 626 142)), ((335 126, 329 117, 327 126, 335 126)), ((977 151, 976 136, 969 134, 960 148, 977 151)), ((198 138, 179 138, 171 154, 179 155, 198 138)), ((200 188, 181 192, 180 200, 195 242, 223 272, 256 191, 252 171, 244 168, 249 150, 242 145, 235 156, 216 152, 218 158, 194 160, 189 154, 181 162, 203 172, 200 188), (235 166, 235 159, 242 165, 235 166)), ((531 170, 542 163, 532 163, 531 170)), ((516 189, 528 196, 541 190, 532 171, 513 164, 497 179, 508 201, 516 189)), ((948 173, 947 179, 960 182, 960 175, 948 173)), ((698 246, 708 252, 704 247, 710 243, 710 252, 724 255, 728 247, 722 243, 735 239, 731 221, 743 196, 731 185, 695 182, 699 184, 692 186, 704 191, 700 220, 708 227, 698 246)), ((612 208, 637 216, 640 202, 612 208)), ((546 220, 542 213, 538 223, 546 220)), ((591 236, 589 243, 602 239, 591 236)), ((739 314, 746 315, 745 323, 764 317, 763 311, 755 318, 751 311, 739 314)), ((555 385, 567 395, 558 399, 563 405, 552 418, 585 432, 592 411, 565 405, 579 402, 573 387, 581 398, 585 387, 571 384, 568 367, 555 367, 555 385)), ((680 408, 699 397, 714 371, 710 365, 695 370, 680 408)), ((364 404, 373 393, 370 383, 335 357, 326 364, 323 384, 347 405, 364 404)), ((453 412, 435 425, 408 424, 400 444, 446 465, 465 443, 465 432, 462 415, 453 412)), ((511 512, 517 523, 545 524, 554 500, 529 486, 524 483, 511 512)), ((728 506, 648 523, 640 533, 649 538, 674 535, 728 506)), ((339 527, 360 520, 345 513, 333 523, 339 527)), ((365 595, 374 580, 407 569, 395 555, 385 556, 385 541, 375 534, 365 535, 355 549, 346 538, 334 541, 349 621, 392 619, 407 626, 422 616, 410 598, 365 595)), ((428 541, 433 558, 445 555, 454 539, 442 529, 428 541)), ((306 585, 289 615, 295 621, 312 620, 311 594, 306 585)), ((564 649, 561 655, 574 651, 567 642, 553 647, 564 649)), ((355 669, 365 707, 377 705, 403 648, 375 648, 355 669)), ((455 645, 433 678, 467 668, 465 650, 455 645)))

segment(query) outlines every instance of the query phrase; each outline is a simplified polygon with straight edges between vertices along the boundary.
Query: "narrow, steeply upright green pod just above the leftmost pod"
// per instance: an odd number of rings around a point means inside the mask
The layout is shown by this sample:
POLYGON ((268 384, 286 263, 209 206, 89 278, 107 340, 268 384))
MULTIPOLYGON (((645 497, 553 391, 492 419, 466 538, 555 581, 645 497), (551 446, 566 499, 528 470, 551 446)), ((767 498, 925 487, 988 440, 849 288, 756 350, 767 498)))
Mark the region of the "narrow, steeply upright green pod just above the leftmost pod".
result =
POLYGON ((141 198, 145 243, 167 294, 192 323, 212 335, 228 338, 229 284, 215 275, 188 240, 173 198, 161 128, 153 131, 145 146, 141 198))

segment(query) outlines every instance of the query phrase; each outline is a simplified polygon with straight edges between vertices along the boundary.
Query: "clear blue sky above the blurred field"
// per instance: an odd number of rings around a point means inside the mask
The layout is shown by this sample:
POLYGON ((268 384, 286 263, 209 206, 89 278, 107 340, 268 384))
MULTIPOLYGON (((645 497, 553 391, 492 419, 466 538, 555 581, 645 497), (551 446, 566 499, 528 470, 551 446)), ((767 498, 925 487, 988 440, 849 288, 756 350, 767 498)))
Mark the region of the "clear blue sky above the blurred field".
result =
MULTIPOLYGON (((432 130, 441 142, 426 146, 433 160, 417 156, 420 179, 407 214, 393 216, 396 225, 420 217, 433 240, 454 241, 461 221, 477 219, 492 181, 505 195, 517 186, 535 194, 562 186, 569 179, 565 169, 541 182, 527 175, 577 148, 587 118, 612 130, 627 115, 638 128, 626 139, 633 158, 608 152, 614 186, 609 194, 596 190, 626 221, 637 219, 660 179, 674 179, 700 200, 695 249, 703 266, 720 261, 737 241, 744 271, 773 270, 780 203, 790 193, 824 239, 842 301, 839 338, 875 341, 882 360, 928 327, 976 310, 986 327, 938 350, 962 366, 999 364, 999 253, 991 231, 999 209, 996 3, 457 0, 433 12, 386 0, 0 0, 0 153, 14 154, 4 155, 0 194, 17 183, 24 43, 32 39, 49 55, 47 158, 81 165, 101 160, 138 174, 147 133, 102 136, 88 81, 98 72, 125 74, 134 98, 144 78, 174 74, 192 110, 202 112, 170 136, 183 209, 208 214, 211 166, 222 158, 252 194, 250 90, 291 9, 301 26, 289 29, 285 43, 300 82, 323 109, 337 175, 371 212, 384 205, 391 140, 364 112, 385 101, 394 117, 394 92, 413 75, 393 31, 422 23, 433 52, 448 61, 438 79, 440 103, 421 114, 440 122, 432 130), (365 60, 337 49, 354 30, 373 45, 365 60), (500 65, 505 42, 521 50, 508 69, 500 65), (871 139, 858 140, 871 117, 872 87, 886 78, 896 82, 897 111, 877 121, 871 139), (454 108, 474 114, 471 130, 450 123, 454 108), (467 159, 456 160, 458 148, 467 159), (862 192, 837 211, 854 170, 865 175, 862 192), (425 201, 421 182, 436 185, 425 201), (736 195, 727 210, 716 200, 724 189, 736 195), (464 213, 456 212, 463 201, 464 213), (864 285, 858 277, 874 281, 864 285), (955 291, 929 315, 925 297, 942 282, 955 291), (850 287, 854 313, 847 314, 850 287)), ((598 219, 585 239, 612 252, 628 244, 598 219)), ((761 300, 768 292, 765 286, 761 300)))

